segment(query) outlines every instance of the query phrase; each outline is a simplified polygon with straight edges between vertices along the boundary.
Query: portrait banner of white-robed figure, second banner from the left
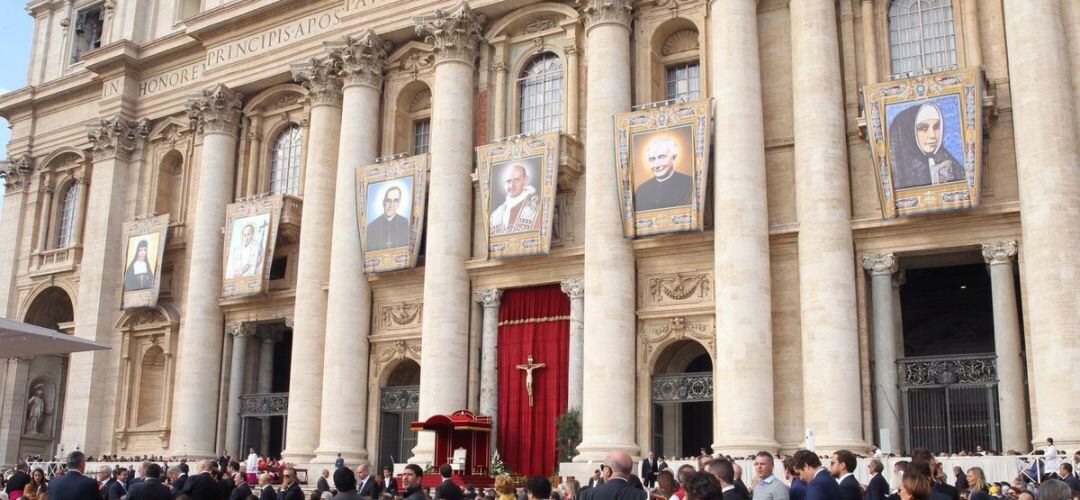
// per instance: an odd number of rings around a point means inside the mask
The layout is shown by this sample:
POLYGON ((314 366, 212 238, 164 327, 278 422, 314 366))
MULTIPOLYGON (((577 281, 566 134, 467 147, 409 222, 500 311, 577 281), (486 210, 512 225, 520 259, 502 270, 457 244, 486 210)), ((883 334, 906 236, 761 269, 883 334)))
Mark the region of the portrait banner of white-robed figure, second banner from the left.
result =
POLYGON ((267 290, 282 203, 282 195, 274 194, 240 201, 226 207, 221 298, 258 295, 267 290))

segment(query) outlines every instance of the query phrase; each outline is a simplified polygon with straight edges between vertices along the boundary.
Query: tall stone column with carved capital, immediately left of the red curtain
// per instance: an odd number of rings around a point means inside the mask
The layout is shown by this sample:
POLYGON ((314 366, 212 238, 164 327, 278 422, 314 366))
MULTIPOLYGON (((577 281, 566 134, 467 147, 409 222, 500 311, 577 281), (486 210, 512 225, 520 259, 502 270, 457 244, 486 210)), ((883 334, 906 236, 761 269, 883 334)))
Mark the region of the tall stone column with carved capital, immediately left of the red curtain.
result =
MULTIPOLYGON (((423 276, 419 417, 448 414, 468 404, 469 259, 472 234, 473 96, 475 60, 484 16, 462 1, 417 16, 416 32, 435 55, 431 113, 431 177, 428 251, 423 276)), ((429 462, 434 435, 417 436, 413 462, 429 462)))

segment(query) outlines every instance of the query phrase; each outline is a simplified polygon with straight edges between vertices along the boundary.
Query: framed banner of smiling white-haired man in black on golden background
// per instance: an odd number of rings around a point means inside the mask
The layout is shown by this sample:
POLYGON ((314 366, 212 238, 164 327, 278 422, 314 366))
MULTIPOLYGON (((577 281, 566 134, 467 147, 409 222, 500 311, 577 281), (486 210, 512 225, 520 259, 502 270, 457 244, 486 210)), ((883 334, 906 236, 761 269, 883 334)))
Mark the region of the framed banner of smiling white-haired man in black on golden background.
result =
POLYGON ((712 100, 616 117, 616 174, 623 234, 701 231, 712 100))

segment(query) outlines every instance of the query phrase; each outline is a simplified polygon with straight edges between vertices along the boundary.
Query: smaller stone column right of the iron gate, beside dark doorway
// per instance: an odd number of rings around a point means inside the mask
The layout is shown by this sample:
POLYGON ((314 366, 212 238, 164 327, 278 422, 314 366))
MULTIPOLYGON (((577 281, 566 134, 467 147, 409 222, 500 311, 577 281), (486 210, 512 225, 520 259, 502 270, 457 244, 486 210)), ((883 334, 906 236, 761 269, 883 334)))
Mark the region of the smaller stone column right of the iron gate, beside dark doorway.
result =
MULTIPOLYGON (((1027 410, 1024 407, 1024 350, 1021 342, 1020 313, 1012 259, 1016 242, 1001 241, 983 245, 983 259, 990 268, 994 296, 994 352, 998 368, 998 413, 1001 421, 1002 449, 1027 449, 1027 410)), ((1055 437, 1056 438, 1056 437, 1055 437)))

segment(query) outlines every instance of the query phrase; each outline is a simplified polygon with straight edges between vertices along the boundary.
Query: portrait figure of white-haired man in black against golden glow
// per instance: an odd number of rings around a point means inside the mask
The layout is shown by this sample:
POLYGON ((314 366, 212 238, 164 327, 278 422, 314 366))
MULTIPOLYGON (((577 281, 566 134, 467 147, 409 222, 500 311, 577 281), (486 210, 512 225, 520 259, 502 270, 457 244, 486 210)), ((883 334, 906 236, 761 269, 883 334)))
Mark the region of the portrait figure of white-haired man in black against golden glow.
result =
POLYGON ((670 137, 657 137, 645 148, 652 178, 634 191, 634 210, 637 212, 672 208, 690 204, 693 179, 675 172, 678 148, 670 137))

